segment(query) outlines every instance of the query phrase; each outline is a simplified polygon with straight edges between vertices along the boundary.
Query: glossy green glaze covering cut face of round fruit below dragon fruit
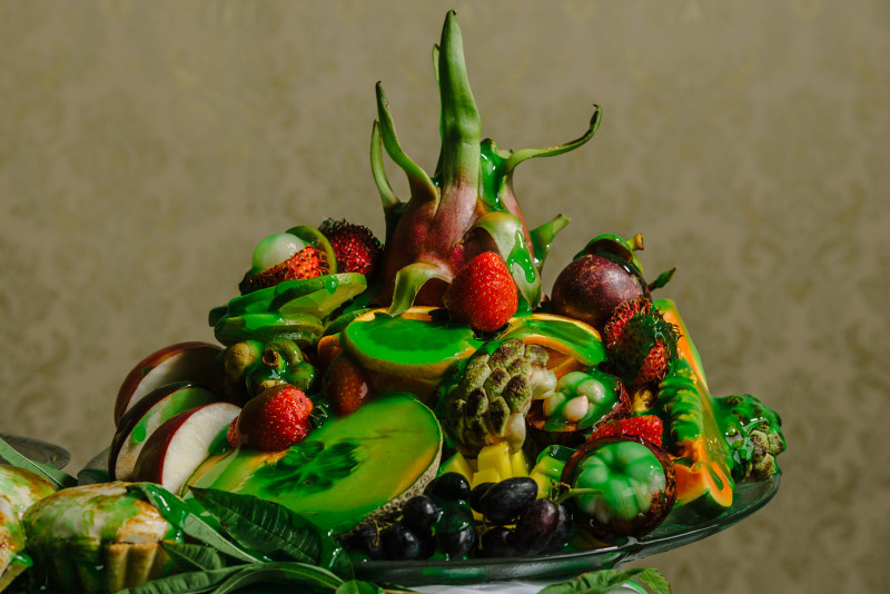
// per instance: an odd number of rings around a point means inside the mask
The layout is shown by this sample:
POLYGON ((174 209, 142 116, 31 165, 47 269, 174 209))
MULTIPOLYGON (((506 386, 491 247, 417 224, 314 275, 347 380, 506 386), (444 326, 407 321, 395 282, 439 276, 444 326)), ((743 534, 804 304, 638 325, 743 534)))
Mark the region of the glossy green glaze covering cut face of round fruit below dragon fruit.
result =
POLYGON ((407 365, 438 364, 454 359, 469 347, 482 346, 466 326, 385 314, 375 315, 373 321, 350 324, 344 336, 350 348, 375 359, 407 365))

